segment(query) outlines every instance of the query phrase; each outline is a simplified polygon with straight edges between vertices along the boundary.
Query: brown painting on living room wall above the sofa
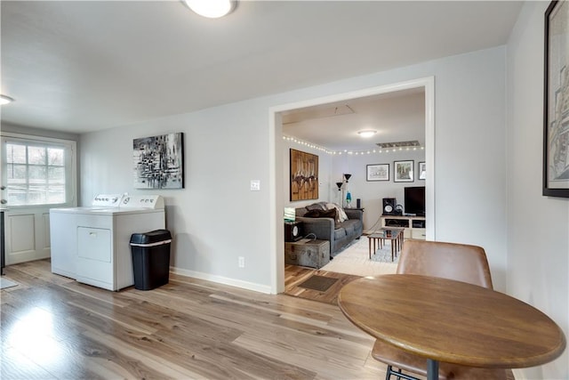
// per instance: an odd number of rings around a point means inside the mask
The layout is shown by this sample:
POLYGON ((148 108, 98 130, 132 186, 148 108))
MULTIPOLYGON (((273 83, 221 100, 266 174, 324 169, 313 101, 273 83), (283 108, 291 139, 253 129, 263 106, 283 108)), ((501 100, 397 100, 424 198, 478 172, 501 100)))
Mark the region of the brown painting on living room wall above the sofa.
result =
POLYGON ((291 201, 318 198, 318 156, 291 150, 291 201))

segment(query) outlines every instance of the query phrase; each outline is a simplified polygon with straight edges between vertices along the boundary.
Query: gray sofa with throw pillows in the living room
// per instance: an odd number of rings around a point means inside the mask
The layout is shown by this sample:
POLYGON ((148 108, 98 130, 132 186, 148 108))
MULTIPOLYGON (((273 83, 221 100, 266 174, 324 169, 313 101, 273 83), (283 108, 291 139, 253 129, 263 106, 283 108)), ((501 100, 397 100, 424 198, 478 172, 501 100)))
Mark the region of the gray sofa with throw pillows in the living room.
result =
POLYGON ((362 232, 364 232, 364 212, 362 210, 344 208, 349 219, 340 223, 335 222, 333 218, 309 218, 304 216, 314 206, 325 206, 325 204, 325 202, 319 202, 307 207, 296 208, 296 220, 303 222, 303 236, 307 237, 307 235, 312 233, 316 236, 316 239, 330 241, 330 256, 333 257, 338 255, 354 239, 359 239, 362 236, 362 232))

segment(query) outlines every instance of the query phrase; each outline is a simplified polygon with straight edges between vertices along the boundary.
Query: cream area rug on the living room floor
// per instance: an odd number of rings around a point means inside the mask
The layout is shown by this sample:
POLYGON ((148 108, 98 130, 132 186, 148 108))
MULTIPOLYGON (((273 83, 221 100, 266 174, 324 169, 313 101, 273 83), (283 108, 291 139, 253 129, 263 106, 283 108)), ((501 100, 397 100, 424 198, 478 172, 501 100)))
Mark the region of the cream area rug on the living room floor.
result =
POLYGON ((397 271, 397 260, 391 262, 391 246, 389 242, 378 249, 369 259, 368 239, 362 236, 340 254, 335 255, 330 263, 320 268, 321 271, 353 274, 356 276, 379 276, 397 271))

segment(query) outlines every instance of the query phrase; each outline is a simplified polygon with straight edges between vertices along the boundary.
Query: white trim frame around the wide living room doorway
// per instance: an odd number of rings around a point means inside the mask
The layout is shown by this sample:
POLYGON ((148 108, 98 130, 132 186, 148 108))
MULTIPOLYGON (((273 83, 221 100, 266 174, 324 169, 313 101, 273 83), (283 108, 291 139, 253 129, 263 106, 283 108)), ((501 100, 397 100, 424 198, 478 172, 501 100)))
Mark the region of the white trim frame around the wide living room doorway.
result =
POLYGON ((284 104, 269 109, 269 201, 270 201, 270 263, 271 263, 271 293, 284 291, 284 231, 283 212, 286 202, 283 167, 286 164, 283 141, 283 117, 294 109, 317 108, 341 101, 353 101, 375 95, 396 93, 405 90, 421 88, 424 91, 425 102, 425 164, 429 167, 426 173, 426 224, 427 239, 435 239, 435 81, 434 77, 425 77, 392 85, 381 85, 350 93, 338 93, 307 101, 284 104))

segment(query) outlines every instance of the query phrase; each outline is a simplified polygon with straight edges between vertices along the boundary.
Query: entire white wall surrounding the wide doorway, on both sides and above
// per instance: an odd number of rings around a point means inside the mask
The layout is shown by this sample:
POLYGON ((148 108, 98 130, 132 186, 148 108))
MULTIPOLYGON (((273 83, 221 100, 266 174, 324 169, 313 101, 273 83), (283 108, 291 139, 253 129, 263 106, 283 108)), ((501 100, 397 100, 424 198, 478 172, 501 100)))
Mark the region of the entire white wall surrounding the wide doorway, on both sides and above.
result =
MULTIPOLYGON (((282 139, 278 137, 276 151, 268 149, 268 109, 435 76, 437 239, 485 247, 495 285, 503 289, 504 51, 497 47, 85 134, 82 198, 98 192, 141 192, 132 190, 132 139, 183 132, 186 189, 152 191, 165 197, 168 228, 174 235, 172 264, 187 274, 268 291, 278 249, 269 244, 268 165, 276 162, 278 171, 283 167, 282 139), (252 179, 260 180, 260 191, 249 190, 252 179), (237 267, 238 256, 245 258, 244 269, 237 267)), ((280 135, 279 128, 276 133, 280 135)), ((284 191, 276 192, 276 205, 284 206, 284 191)))

